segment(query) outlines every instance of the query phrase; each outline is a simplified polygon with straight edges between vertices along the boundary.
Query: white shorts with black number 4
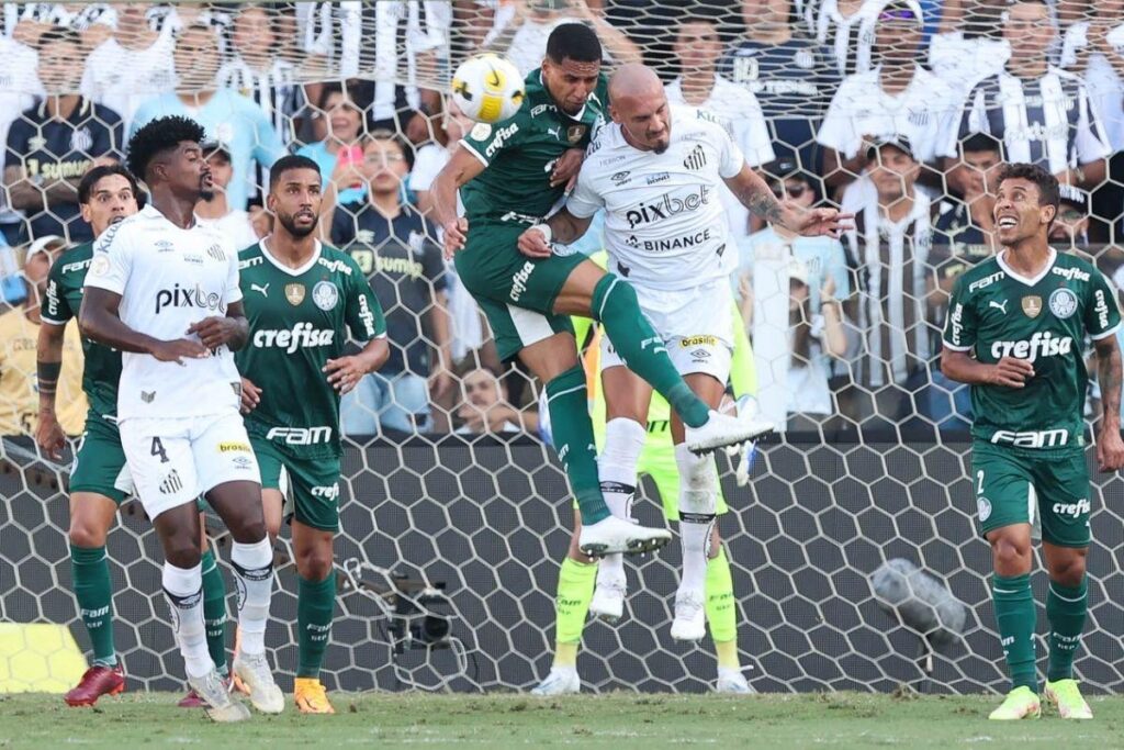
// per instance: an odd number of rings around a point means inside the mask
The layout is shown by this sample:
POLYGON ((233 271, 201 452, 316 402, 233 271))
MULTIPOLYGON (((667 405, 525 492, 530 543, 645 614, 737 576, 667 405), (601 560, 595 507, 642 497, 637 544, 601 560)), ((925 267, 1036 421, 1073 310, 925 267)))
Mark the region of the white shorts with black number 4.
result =
POLYGON ((257 459, 236 412, 120 423, 121 446, 149 518, 228 481, 261 482, 257 459))

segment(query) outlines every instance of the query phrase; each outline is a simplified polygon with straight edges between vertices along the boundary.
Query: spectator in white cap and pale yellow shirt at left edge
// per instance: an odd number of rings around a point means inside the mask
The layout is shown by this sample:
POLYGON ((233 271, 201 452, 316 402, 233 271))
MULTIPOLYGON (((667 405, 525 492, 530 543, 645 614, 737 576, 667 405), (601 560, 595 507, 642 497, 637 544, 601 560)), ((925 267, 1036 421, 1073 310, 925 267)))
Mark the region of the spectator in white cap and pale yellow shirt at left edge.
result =
MULTIPOLYGON (((0 315, 0 435, 35 435, 39 419, 35 345, 39 337, 39 304, 47 289, 51 263, 66 246, 62 237, 40 237, 21 249, 26 298, 0 315)), ((85 424, 82 392, 82 341, 71 320, 63 340, 63 377, 58 382, 58 424, 79 435, 85 424)))

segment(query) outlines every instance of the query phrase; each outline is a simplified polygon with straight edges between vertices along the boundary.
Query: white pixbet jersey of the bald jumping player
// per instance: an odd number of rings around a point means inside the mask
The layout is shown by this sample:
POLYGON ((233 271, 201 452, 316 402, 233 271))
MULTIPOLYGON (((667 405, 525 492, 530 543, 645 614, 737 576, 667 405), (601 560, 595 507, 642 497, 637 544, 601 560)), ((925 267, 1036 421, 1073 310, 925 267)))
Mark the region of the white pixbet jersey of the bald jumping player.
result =
POLYGON ((672 105, 662 154, 628 145, 616 123, 602 127, 566 208, 578 217, 605 208, 610 271, 653 289, 694 287, 725 275, 723 255, 737 252, 720 189, 744 164, 718 118, 672 105))

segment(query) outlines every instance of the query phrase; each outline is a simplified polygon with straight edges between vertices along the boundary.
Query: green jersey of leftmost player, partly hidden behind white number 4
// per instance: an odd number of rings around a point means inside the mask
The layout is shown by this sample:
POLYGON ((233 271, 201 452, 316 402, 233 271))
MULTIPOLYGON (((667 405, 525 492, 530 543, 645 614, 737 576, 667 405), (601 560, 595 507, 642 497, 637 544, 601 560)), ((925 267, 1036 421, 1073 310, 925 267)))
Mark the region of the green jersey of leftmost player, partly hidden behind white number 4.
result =
MULTIPOLYGON (((67 250, 51 265, 47 293, 40 315, 44 323, 66 325, 82 309, 82 286, 93 259, 93 243, 67 250)), ((117 414, 117 383, 121 379, 121 353, 82 336, 85 367, 82 390, 94 414, 117 414)))

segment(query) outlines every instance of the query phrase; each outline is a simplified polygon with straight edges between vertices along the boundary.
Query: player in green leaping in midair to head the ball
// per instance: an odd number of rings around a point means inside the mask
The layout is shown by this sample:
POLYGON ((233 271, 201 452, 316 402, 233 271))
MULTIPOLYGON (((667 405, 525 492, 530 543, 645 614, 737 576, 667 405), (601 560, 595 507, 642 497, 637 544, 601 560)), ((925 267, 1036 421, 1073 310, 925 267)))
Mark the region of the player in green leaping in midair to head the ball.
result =
POLYGON ((446 253, 456 253, 457 274, 488 316, 500 356, 518 356, 546 386, 555 446, 581 513, 579 546, 596 555, 658 549, 670 533, 618 518, 605 504, 570 315, 605 325, 628 367, 682 417, 692 451, 743 443, 771 427, 719 414, 696 396, 627 283, 580 255, 529 259, 517 249, 519 235, 563 196, 575 172, 568 161, 572 150, 586 146, 605 120, 608 89, 600 64, 592 30, 556 27, 542 67, 526 79, 519 111, 495 126, 473 127, 432 190, 446 253), (457 189, 463 218, 456 216, 457 189))

